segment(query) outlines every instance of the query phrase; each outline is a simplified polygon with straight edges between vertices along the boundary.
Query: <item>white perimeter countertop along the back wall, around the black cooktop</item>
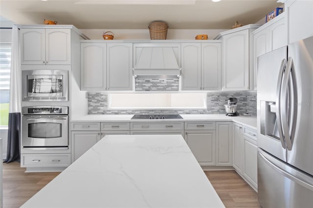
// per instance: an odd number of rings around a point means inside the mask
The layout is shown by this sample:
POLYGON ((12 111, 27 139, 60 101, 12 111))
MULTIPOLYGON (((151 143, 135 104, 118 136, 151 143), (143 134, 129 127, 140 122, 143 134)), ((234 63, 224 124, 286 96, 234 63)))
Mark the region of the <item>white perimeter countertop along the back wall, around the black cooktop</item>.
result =
POLYGON ((134 115, 86 115, 72 122, 177 122, 177 121, 232 121, 241 125, 246 125, 252 129, 257 129, 256 116, 225 116, 225 114, 180 114, 183 119, 168 120, 131 120, 134 115))

